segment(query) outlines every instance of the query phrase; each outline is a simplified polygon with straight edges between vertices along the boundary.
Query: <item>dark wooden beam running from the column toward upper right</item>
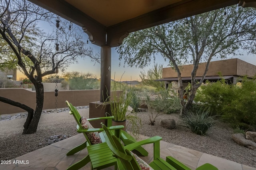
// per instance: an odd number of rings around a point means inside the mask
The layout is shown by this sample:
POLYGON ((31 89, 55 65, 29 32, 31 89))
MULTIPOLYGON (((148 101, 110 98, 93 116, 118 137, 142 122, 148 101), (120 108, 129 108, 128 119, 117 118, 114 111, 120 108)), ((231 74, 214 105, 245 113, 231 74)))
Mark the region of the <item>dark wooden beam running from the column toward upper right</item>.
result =
POLYGON ((184 0, 107 28, 107 45, 119 46, 130 32, 238 4, 239 0, 184 0))

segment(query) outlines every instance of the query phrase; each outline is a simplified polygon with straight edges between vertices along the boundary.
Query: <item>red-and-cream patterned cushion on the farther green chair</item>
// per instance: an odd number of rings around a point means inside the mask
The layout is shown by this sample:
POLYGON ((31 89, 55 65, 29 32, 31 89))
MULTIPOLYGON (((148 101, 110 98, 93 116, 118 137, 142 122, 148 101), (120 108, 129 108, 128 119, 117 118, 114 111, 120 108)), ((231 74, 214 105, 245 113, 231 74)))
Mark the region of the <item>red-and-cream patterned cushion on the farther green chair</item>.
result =
MULTIPOLYGON (((94 128, 85 117, 81 117, 81 124, 82 124, 83 129, 93 129, 94 128)), ((92 145, 97 144, 97 143, 102 143, 98 132, 87 132, 86 136, 88 137, 88 139, 92 145)))

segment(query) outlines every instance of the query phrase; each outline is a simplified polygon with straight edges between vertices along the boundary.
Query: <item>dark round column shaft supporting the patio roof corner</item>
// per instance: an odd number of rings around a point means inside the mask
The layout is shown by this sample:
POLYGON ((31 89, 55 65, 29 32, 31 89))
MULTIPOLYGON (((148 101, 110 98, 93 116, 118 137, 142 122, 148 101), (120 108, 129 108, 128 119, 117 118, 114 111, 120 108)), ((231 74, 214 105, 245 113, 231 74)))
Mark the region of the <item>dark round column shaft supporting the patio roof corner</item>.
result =
POLYGON ((100 102, 108 101, 111 82, 111 47, 100 47, 100 102))

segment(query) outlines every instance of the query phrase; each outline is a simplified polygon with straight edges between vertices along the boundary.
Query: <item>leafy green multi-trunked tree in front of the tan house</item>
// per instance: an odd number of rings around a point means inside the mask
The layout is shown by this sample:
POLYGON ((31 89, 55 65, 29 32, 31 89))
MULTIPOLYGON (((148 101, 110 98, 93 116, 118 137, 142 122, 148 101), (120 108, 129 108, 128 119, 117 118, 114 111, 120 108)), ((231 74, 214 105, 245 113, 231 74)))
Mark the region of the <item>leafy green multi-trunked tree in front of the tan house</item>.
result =
POLYGON ((229 6, 131 33, 118 47, 118 53, 129 66, 140 68, 150 64, 152 59, 156 61, 156 57, 169 61, 177 72, 183 114, 192 104, 212 58, 224 59, 239 55, 241 51, 255 53, 255 21, 255 9, 229 6), (206 63, 206 68, 201 80, 196 81, 201 62, 206 63), (183 99, 182 64, 193 64, 191 90, 186 102, 183 99))

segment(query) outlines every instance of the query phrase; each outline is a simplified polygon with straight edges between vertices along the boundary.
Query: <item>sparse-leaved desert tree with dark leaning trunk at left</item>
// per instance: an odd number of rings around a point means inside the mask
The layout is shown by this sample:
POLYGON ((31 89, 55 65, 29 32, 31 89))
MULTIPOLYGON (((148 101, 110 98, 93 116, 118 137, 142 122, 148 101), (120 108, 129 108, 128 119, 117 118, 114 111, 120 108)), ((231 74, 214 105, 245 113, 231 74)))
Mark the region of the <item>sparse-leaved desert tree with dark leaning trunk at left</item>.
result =
POLYGON ((8 61, 11 54, 13 62, 18 63, 18 68, 34 84, 36 108, 3 97, 0 101, 28 111, 23 134, 35 133, 44 103, 42 77, 65 70, 79 57, 99 61, 99 55, 86 47, 78 26, 26 0, 0 1, 0 39, 1 45, 4 44, 0 56, 8 61), (55 26, 55 21, 59 27, 55 26), (43 24, 46 30, 38 24, 43 24))

